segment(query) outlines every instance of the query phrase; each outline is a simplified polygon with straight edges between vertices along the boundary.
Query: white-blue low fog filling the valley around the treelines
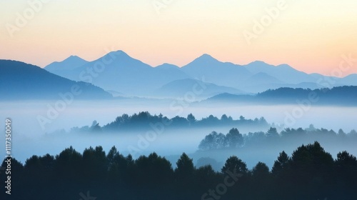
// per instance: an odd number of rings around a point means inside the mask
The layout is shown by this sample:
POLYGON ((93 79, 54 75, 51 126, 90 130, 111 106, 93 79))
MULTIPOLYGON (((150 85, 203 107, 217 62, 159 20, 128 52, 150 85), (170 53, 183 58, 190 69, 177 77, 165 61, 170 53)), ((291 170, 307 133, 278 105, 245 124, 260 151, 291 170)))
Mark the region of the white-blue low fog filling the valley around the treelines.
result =
MULTIPOLYGON (((227 104, 188 104, 173 100, 144 100, 144 99, 119 99, 115 101, 74 101, 71 104, 56 104, 58 101, 12 101, 1 102, 0 119, 5 124, 5 119, 11 119, 13 156, 22 163, 27 158, 36 154, 59 154, 66 147, 73 146, 79 152, 89 146, 103 146, 106 152, 111 146, 116 146, 121 154, 149 154, 156 151, 161 156, 166 156, 175 162, 182 152, 186 152, 193 157, 193 162, 201 157, 211 157, 216 161, 224 162, 228 155, 236 154, 248 167, 253 167, 258 161, 263 161, 272 166, 273 161, 282 150, 288 154, 305 141, 297 144, 287 144, 286 146, 276 146, 276 149, 257 149, 256 151, 243 152, 237 149, 222 154, 211 154, 206 152, 196 152, 198 144, 211 131, 223 134, 233 127, 209 127, 203 129, 164 129, 162 134, 154 136, 150 141, 143 141, 146 131, 128 132, 126 134, 68 134, 56 133, 54 131, 64 129, 69 131, 74 126, 91 126, 96 120, 103 126, 116 119, 122 114, 139 113, 139 111, 149 111, 150 114, 163 114, 169 118, 174 116, 186 117, 192 113, 196 119, 201 119, 209 115, 221 118, 223 114, 239 119, 240 116, 246 119, 261 118, 263 116, 269 124, 276 124, 278 131, 283 127, 307 128, 313 124, 316 128, 343 129, 346 133, 352 129, 357 130, 357 107, 334 107, 334 106, 307 106, 298 105, 278 105, 278 106, 252 106, 252 105, 227 105, 227 104), (57 107, 56 107, 56 106, 57 107), (41 121, 41 122, 39 122, 41 121), (285 124, 285 125, 284 125, 285 124), (280 128, 279 128, 280 127, 280 128), (139 149, 139 150, 138 150, 139 149), (137 153, 136 153, 137 152, 137 153), (195 153, 196 152, 196 153, 195 153), (194 153, 194 154, 193 154, 194 153)), ((1 125, 4 127, 4 125, 1 125)), ((241 134, 248 132, 264 131, 254 128, 235 127, 241 134)), ((4 128, 3 128, 4 130, 4 128)), ((147 130, 149 131, 149 130, 147 130)), ((4 133, 4 131, 3 131, 4 133)), ((1 134, 1 141, 5 135, 1 134)), ((313 142, 313 141, 311 141, 313 142)), ((356 142, 357 143, 357 142, 356 142)), ((343 144, 333 145, 333 142, 322 141, 321 145, 326 151, 336 157, 338 151, 348 150, 351 154, 357 155, 357 150, 353 146, 343 144)), ((356 146, 356 145, 355 145, 356 146)), ((0 149, 5 149, 4 142, 1 142, 0 149)), ((4 151, 0 151, 4 152, 4 151)), ((4 153, 3 153, 4 154, 4 153)))

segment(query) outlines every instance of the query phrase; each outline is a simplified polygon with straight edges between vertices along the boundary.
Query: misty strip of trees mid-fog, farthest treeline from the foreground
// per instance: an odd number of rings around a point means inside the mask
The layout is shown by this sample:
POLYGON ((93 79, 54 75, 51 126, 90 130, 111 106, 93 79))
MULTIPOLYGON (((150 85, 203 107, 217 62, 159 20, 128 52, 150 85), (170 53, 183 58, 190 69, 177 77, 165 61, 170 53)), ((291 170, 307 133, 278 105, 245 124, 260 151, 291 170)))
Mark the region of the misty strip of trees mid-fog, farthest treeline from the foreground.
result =
POLYGON ((267 128, 269 126, 266 119, 261 117, 260 119, 245 119, 240 116, 239 119, 233 119, 231 116, 223 114, 221 118, 210 115, 202 119, 196 119, 193 114, 188 114, 187 117, 175 116, 169 119, 167 116, 151 115, 148 111, 139 112, 139 114, 123 114, 116 117, 114 121, 104 126, 100 126, 97 121, 93 121, 91 126, 83 126, 81 128, 74 127, 71 132, 106 132, 106 131, 130 131, 138 129, 152 129, 152 126, 156 124, 162 124, 166 128, 196 128, 196 127, 208 127, 208 126, 254 126, 267 128))

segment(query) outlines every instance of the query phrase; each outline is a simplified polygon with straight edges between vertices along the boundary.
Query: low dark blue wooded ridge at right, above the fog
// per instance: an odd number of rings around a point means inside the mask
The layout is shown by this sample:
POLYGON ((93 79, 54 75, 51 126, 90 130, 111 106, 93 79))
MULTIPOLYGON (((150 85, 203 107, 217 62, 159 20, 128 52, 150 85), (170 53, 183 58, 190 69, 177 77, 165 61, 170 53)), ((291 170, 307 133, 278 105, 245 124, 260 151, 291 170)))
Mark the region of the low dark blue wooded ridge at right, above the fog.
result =
MULTIPOLYGON (((308 101, 308 104, 356 106, 357 86, 338 86, 332 89, 269 89, 256 95, 218 94, 206 102, 231 102, 249 104, 297 104, 308 101), (311 97, 313 96, 312 100, 311 97), (310 99, 309 99, 310 98, 310 99)), ((301 103, 302 104, 302 103, 301 103)))

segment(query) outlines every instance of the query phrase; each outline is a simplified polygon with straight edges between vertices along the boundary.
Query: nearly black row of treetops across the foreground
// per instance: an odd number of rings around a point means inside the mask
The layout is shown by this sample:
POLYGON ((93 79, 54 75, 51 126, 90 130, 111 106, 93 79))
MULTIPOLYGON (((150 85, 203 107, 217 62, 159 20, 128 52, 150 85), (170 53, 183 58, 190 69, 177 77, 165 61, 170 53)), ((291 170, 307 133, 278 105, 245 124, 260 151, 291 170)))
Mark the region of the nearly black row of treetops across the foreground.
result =
MULTIPOLYGON (((6 168, 6 162, 1 165, 6 168)), ((273 168, 253 169, 237 156, 221 171, 196 168, 182 154, 176 169, 155 153, 133 159, 115 147, 97 146, 83 154, 72 147, 59 155, 11 160, 10 199, 356 199, 357 159, 343 151, 333 159, 315 142, 288 156, 282 151, 273 168)), ((3 182, 6 174, 1 173, 3 182)), ((1 187, 1 199, 9 199, 1 187)))

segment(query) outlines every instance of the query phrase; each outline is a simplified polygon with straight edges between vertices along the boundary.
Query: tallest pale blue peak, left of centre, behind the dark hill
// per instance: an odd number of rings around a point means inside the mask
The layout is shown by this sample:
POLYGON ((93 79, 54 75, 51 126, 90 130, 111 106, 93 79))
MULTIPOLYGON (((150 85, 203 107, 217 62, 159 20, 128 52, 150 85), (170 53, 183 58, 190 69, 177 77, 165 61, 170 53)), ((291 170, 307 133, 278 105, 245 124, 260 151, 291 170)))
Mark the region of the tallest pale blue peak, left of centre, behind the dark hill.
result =
POLYGON ((65 77, 75 81, 86 81, 127 96, 148 96, 170 81, 190 78, 175 67, 151 67, 124 51, 110 52, 95 61, 68 71, 65 77))

